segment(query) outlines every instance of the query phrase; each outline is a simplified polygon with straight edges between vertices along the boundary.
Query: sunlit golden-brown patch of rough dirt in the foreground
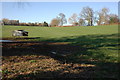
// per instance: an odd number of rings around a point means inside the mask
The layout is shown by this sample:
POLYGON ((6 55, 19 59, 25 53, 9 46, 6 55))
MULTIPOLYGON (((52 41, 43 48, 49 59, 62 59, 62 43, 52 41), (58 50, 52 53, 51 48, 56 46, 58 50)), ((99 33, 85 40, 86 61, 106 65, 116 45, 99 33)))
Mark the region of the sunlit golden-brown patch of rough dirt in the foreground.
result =
POLYGON ((24 58, 23 57, 16 58, 12 56, 10 57, 11 58, 6 57, 3 60, 3 64, 2 64, 3 79, 16 79, 16 78, 20 78, 19 76, 22 76, 22 79, 25 79, 27 75, 28 78, 33 78, 33 76, 39 78, 47 78, 47 77, 72 78, 72 77, 81 77, 80 72, 83 71, 90 72, 90 74, 88 73, 82 74, 84 76, 86 75, 85 77, 90 77, 90 75, 94 73, 92 67, 95 67, 95 65, 90 65, 90 64, 72 64, 72 63, 63 64, 60 61, 45 56, 34 55, 34 56, 26 56, 26 57, 24 56, 24 58))

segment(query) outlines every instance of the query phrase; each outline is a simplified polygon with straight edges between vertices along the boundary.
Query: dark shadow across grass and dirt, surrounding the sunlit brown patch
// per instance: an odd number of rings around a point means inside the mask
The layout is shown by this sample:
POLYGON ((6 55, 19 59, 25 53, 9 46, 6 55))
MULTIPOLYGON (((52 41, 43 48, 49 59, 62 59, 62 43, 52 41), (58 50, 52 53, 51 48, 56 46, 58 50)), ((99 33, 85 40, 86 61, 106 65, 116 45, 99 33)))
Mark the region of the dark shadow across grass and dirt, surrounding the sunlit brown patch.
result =
MULTIPOLYGON (((39 38, 37 39, 39 41, 39 38)), ((33 80, 44 77, 85 78, 86 75, 88 78, 118 78, 118 45, 118 34, 73 36, 36 43, 3 43, 3 56, 45 55, 62 64, 95 65, 95 67, 83 67, 83 71, 77 74, 63 73, 64 70, 39 71, 35 74, 19 75, 13 79, 25 79, 26 76, 33 80)), ((81 67, 78 67, 78 70, 79 68, 81 67)))

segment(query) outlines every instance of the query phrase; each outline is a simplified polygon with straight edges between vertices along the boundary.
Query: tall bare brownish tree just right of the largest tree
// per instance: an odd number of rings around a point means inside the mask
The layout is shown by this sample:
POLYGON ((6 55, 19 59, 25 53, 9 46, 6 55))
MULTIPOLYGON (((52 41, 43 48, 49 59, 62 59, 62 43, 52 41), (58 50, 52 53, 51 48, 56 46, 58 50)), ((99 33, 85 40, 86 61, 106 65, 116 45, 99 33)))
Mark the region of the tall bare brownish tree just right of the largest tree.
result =
POLYGON ((108 12, 109 12, 108 8, 102 8, 102 10, 98 12, 98 21, 97 21, 98 25, 108 24, 109 22, 108 12))

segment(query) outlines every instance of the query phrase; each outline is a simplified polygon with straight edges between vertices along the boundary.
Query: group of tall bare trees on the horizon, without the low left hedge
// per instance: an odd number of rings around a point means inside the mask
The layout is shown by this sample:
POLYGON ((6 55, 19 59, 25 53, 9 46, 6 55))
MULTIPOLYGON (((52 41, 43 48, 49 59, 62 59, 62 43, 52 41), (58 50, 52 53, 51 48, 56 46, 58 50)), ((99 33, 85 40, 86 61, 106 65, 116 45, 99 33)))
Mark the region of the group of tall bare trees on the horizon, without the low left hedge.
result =
MULTIPOLYGON (((119 18, 116 14, 109 14, 110 10, 108 8, 102 8, 100 11, 93 11, 90 7, 83 7, 79 15, 73 13, 73 15, 68 19, 68 22, 73 26, 94 26, 102 24, 113 24, 118 23, 119 18)), ((52 19, 52 26, 61 26, 66 23, 65 14, 62 14, 62 18, 56 17, 52 19), (63 21, 60 24, 61 20, 63 21)), ((59 14, 59 15, 60 15, 59 14)))

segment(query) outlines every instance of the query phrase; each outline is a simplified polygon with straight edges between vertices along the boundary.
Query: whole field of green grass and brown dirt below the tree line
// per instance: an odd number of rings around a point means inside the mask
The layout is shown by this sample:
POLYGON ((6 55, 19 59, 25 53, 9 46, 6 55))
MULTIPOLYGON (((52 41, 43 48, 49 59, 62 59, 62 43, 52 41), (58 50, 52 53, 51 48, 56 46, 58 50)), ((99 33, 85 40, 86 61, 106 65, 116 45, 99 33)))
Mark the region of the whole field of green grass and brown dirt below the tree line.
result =
POLYGON ((3 80, 118 78, 117 25, 3 26, 3 38, 21 41, 2 44, 3 80), (11 37, 17 29, 28 31, 28 38, 11 37))

